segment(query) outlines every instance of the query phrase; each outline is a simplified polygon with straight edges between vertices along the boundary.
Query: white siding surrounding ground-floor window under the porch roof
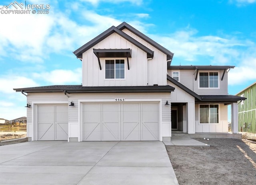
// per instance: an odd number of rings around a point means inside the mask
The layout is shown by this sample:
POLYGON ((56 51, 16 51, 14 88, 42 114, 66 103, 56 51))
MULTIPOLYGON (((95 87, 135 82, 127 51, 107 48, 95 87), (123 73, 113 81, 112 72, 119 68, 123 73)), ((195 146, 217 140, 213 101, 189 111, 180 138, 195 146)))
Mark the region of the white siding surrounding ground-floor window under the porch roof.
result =
POLYGON ((218 124, 200 124, 199 106, 195 104, 196 132, 228 132, 228 106, 219 104, 219 123, 218 124))

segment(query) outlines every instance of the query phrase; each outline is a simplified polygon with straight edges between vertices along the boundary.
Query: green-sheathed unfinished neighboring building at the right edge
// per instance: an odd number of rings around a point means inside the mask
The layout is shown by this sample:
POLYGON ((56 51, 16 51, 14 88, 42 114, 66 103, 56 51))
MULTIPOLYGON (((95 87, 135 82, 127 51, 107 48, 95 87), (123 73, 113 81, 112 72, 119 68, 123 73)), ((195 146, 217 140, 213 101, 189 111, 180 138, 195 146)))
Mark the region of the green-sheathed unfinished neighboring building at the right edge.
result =
POLYGON ((236 95, 247 98, 238 103, 239 131, 256 134, 256 82, 236 95))

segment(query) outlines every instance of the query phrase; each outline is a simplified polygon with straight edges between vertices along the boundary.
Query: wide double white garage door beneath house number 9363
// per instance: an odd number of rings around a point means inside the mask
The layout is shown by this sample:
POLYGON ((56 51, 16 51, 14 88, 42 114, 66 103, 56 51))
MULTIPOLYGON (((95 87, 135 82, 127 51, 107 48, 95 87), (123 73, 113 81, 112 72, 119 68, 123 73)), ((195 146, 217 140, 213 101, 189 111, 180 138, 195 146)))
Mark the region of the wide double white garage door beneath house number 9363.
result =
POLYGON ((159 104, 85 103, 83 140, 159 140, 159 104))

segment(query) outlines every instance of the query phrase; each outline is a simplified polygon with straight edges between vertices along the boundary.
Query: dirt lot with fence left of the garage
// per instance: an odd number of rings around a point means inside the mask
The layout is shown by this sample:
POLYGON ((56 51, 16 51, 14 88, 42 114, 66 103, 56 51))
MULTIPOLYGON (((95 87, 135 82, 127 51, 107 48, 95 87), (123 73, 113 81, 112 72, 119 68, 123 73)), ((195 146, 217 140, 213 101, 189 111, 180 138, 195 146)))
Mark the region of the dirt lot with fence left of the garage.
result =
POLYGON ((28 138, 26 138, 27 132, 0 132, 0 146, 7 145, 7 144, 16 144, 20 142, 27 142, 28 138), (6 140, 24 138, 21 140, 14 140, 9 142, 2 142, 6 140))

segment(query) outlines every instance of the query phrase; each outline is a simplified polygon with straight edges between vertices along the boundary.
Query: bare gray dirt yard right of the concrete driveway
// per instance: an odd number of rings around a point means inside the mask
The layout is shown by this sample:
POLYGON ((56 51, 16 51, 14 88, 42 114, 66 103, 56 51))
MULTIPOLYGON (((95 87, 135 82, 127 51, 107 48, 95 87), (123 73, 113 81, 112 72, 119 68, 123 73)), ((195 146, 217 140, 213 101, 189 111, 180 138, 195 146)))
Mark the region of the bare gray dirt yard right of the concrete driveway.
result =
POLYGON ((180 185, 255 185, 256 144, 212 138, 199 146, 166 146, 180 185))

